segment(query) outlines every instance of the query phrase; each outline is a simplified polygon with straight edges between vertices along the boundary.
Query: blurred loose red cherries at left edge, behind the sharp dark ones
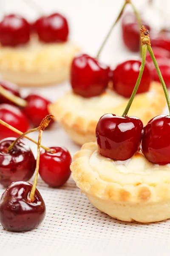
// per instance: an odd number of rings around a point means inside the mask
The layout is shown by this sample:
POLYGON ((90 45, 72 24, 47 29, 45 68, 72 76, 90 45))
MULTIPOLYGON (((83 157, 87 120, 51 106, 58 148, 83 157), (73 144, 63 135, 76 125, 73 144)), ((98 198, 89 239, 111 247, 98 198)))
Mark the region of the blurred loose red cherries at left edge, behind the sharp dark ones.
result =
MULTIPOLYGON (((35 93, 31 93, 25 99, 22 99, 16 84, 0 81, 0 119, 22 132, 28 130, 29 122, 34 127, 40 124, 44 116, 49 114, 48 104, 50 103, 48 99, 35 93), (22 101, 21 104, 20 101, 22 101), (16 105, 19 105, 20 108, 16 105)), ((14 131, 0 125, 0 140, 15 136, 14 131)))

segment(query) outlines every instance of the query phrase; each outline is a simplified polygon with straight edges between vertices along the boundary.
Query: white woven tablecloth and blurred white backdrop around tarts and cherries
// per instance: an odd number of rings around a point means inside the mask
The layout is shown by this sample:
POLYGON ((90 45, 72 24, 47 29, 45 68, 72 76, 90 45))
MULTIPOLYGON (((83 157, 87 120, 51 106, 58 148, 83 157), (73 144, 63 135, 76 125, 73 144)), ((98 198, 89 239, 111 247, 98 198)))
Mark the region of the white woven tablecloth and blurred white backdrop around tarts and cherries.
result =
MULTIPOLYGON (((28 2, 28 1, 27 1, 28 2)), ((95 55, 104 36, 121 9, 123 0, 37 0, 42 12, 61 12, 68 17, 70 40, 83 51, 95 55)), ((157 30, 168 24, 168 0, 155 1, 155 7, 148 9, 146 1, 133 3, 144 13, 157 30), (167 14, 166 14, 167 12, 167 14)), ((1 15, 17 12, 34 20, 38 12, 21 0, 1 0, 1 15)), ((131 56, 122 45, 120 25, 111 35, 101 60, 111 66, 131 56)), ((48 88, 36 88, 42 96, 51 101, 69 90, 69 82, 48 88)), ((30 90, 23 89, 23 95, 30 90)), ((166 110, 165 110, 166 112, 166 110)), ((37 133, 30 137, 37 139, 37 133)), ((36 155, 36 146, 31 146, 36 155)), ((45 131, 42 144, 65 146, 71 154, 79 147, 71 142, 58 124, 45 131)), ((47 207, 45 221, 36 230, 27 233, 10 233, 0 226, 0 255, 168 255, 170 253, 170 221, 157 224, 127 224, 113 220, 93 207, 70 179, 61 189, 48 188, 40 179, 40 190, 47 207)), ((3 192, 0 187, 0 194, 3 192)))

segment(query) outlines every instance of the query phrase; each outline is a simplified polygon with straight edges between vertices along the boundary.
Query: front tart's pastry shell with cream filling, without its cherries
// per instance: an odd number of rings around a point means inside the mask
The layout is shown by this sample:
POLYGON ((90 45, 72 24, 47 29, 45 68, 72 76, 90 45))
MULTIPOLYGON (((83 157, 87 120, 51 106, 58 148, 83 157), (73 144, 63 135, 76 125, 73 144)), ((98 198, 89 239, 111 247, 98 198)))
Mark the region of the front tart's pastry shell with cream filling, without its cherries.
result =
POLYGON ((170 218, 170 166, 149 162, 141 151, 125 161, 99 154, 86 143, 74 155, 72 178, 100 211, 122 221, 149 223, 170 218))

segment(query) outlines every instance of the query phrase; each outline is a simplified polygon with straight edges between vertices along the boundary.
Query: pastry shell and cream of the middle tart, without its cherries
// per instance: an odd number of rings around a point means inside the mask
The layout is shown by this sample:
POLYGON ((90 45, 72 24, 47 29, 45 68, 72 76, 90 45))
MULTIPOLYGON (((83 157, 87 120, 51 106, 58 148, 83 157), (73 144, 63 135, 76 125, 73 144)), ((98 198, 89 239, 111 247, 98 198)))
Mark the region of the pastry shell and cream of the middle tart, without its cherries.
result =
MULTIPOLYGON (((70 91, 49 105, 49 112, 55 116, 69 137, 82 145, 96 140, 96 124, 102 115, 115 113, 121 116, 127 102, 127 98, 110 89, 91 98, 84 98, 70 91)), ((162 113, 165 102, 161 84, 153 81, 148 92, 136 95, 128 115, 139 117, 145 125, 153 116, 162 113)))

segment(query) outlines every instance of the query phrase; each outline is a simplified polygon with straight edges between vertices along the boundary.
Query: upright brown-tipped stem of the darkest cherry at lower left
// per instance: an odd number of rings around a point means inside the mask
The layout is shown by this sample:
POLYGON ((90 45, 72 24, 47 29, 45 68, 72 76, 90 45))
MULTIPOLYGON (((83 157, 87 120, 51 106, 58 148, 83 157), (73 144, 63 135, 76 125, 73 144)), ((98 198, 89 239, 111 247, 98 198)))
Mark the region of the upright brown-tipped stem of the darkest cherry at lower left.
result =
POLYGON ((34 195, 35 195, 35 190, 36 190, 36 186, 37 186, 38 172, 39 172, 39 166, 40 166, 40 145, 41 145, 42 132, 48 126, 48 124, 50 123, 52 118, 53 118, 53 115, 46 116, 42 120, 42 122, 40 123, 40 126, 39 126, 35 177, 34 177, 34 183, 33 183, 32 189, 31 189, 31 193, 30 193, 30 196, 29 196, 29 198, 31 199, 32 202, 34 202, 34 195))

